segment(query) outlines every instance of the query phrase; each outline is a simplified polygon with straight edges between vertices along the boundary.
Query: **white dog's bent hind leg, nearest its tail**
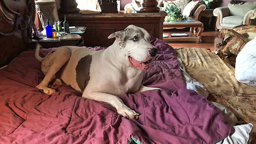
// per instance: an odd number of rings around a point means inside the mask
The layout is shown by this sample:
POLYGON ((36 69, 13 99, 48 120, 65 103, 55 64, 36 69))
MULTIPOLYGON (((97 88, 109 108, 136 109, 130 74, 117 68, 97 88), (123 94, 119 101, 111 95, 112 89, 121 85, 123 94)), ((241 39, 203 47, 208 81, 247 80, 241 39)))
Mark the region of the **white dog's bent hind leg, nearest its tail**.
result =
POLYGON ((69 60, 71 51, 67 47, 59 47, 46 55, 42 61, 42 71, 45 74, 43 81, 37 85, 37 89, 41 89, 45 94, 52 94, 54 89, 48 87, 49 82, 55 77, 55 74, 69 60))

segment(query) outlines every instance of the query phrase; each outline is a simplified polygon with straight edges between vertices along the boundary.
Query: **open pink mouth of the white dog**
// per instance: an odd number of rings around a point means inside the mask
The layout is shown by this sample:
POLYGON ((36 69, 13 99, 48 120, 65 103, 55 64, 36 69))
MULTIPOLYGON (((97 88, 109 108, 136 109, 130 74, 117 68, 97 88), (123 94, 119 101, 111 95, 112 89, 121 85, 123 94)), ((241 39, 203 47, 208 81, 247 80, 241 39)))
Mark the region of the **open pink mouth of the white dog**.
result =
POLYGON ((128 59, 131 67, 138 68, 143 71, 149 67, 149 63, 154 60, 154 57, 146 59, 145 61, 137 61, 130 56, 128 57, 128 59))

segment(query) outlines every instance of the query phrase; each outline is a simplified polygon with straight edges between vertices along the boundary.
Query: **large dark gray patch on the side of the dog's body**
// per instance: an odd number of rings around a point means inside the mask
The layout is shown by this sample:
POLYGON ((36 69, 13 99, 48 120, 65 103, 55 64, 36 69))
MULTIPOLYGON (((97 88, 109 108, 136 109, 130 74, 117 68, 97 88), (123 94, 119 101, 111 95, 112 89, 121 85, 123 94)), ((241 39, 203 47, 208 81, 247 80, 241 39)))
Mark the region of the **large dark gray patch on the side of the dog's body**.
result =
POLYGON ((81 91, 84 91, 90 80, 90 67, 92 63, 92 55, 86 55, 81 58, 76 66, 76 82, 81 91))

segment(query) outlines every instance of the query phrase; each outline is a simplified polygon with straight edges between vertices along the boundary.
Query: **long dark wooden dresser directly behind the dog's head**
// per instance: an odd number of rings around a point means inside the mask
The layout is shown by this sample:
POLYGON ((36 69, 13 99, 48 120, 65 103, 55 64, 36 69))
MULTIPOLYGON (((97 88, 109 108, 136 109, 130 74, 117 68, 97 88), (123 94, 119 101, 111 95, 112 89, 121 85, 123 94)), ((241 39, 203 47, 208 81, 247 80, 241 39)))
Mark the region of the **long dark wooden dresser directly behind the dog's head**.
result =
POLYGON ((60 21, 66 15, 69 26, 86 27, 83 34, 85 46, 109 46, 115 39, 108 36, 115 31, 123 30, 129 25, 145 28, 153 37, 163 39, 163 22, 165 12, 155 13, 59 13, 60 21))

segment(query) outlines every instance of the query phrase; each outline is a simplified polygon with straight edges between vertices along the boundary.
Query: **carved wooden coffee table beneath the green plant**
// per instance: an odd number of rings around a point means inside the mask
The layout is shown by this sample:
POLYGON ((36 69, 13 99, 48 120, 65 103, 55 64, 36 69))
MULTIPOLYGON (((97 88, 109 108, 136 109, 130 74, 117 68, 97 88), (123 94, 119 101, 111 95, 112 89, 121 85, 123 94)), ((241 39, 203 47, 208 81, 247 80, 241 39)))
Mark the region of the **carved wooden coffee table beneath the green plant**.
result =
POLYGON ((171 37, 171 35, 169 35, 168 38, 163 38, 165 42, 170 42, 170 41, 183 41, 183 42, 189 41, 189 42, 196 42, 196 43, 202 42, 200 35, 204 31, 204 26, 203 26, 203 23, 198 20, 192 19, 192 20, 180 21, 180 22, 164 22, 164 29, 171 29, 171 28, 177 28, 177 29, 190 28, 190 33, 188 33, 188 36, 171 37), (196 32, 195 28, 198 29, 197 34, 195 33, 196 32))

